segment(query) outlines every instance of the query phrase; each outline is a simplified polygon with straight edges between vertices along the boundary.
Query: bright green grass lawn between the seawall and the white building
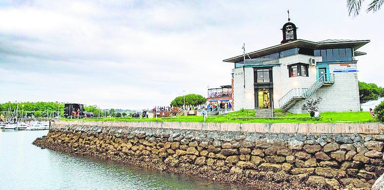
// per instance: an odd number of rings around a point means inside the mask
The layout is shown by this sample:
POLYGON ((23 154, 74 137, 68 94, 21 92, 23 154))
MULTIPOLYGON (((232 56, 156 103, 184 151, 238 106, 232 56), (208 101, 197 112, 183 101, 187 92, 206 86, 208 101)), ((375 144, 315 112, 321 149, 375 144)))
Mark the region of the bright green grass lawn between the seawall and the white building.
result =
MULTIPOLYGON (((336 122, 373 122, 368 112, 324 112, 322 118, 300 118, 309 117, 309 114, 276 113, 279 118, 254 118, 254 110, 241 110, 226 115, 209 115, 206 122, 232 122, 232 123, 336 123, 336 122), (245 118, 244 118, 245 117, 245 118)), ((76 119, 61 119, 76 120, 76 119)), ((88 121, 176 121, 176 122, 203 122, 202 116, 180 116, 167 118, 143 118, 131 117, 107 117, 107 118, 84 118, 88 121)))

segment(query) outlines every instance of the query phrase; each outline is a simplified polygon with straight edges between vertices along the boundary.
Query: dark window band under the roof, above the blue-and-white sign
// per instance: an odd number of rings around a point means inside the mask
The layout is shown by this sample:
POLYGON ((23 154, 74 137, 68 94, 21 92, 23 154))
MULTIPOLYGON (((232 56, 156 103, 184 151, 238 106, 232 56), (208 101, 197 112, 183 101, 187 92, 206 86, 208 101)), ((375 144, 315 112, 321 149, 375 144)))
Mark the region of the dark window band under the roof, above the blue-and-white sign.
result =
POLYGON ((323 57, 323 62, 326 62, 326 61, 351 61, 352 60, 352 48, 315 50, 314 55, 323 57))

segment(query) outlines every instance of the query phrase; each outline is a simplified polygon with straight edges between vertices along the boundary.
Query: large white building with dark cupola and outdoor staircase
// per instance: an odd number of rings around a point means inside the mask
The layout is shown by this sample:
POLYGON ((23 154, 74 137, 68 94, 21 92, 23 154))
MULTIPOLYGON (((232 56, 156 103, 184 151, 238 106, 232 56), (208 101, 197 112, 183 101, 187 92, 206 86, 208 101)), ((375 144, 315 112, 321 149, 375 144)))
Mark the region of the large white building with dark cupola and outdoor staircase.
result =
POLYGON ((234 110, 282 109, 305 113, 308 99, 322 98, 320 112, 360 111, 357 51, 370 40, 297 39, 292 22, 283 25, 281 44, 224 59, 234 63, 234 110))

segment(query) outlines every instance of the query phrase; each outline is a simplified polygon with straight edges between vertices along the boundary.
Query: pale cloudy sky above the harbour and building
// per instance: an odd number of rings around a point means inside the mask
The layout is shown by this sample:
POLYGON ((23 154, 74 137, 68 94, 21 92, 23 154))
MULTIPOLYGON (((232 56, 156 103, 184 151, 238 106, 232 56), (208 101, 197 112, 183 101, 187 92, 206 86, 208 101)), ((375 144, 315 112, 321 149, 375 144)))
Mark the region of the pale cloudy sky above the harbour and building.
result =
POLYGON ((358 78, 384 86, 384 10, 349 17, 345 0, 13 0, 0 2, 0 103, 140 110, 206 96, 231 84, 222 60, 243 43, 280 44, 287 9, 300 39, 370 39, 358 78))

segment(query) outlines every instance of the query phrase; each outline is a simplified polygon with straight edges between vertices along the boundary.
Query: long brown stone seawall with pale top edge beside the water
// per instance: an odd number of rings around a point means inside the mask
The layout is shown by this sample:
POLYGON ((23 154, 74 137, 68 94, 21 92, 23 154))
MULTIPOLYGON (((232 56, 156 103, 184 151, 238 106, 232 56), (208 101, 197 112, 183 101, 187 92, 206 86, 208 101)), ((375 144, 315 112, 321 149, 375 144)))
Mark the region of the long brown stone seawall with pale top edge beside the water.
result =
POLYGON ((369 189, 384 172, 383 134, 92 124, 55 121, 34 144, 260 189, 369 189))

